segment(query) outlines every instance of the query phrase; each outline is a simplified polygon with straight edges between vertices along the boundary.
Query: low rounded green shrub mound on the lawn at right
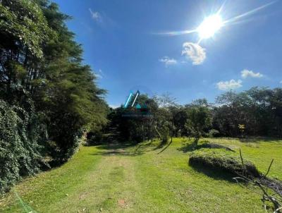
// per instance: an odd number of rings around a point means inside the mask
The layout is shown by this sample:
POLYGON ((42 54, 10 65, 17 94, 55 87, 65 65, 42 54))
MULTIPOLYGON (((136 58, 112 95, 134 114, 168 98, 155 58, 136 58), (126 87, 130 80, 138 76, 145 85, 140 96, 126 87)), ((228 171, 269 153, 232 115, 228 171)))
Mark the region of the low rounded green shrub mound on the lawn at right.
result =
POLYGON ((228 171, 231 174, 243 174, 259 177, 261 174, 254 164, 244 161, 244 166, 238 154, 223 149, 200 149, 190 154, 191 166, 208 166, 211 169, 228 171))

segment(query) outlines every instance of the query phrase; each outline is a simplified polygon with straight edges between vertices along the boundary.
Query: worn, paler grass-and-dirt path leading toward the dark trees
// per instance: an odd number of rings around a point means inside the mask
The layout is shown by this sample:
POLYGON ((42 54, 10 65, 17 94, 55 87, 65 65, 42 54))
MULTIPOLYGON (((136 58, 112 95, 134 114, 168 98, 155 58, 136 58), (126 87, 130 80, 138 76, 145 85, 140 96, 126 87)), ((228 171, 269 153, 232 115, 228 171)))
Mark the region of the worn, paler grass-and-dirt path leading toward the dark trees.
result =
POLYGON ((135 179, 135 162, 125 150, 109 150, 102 155, 97 169, 92 171, 76 193, 61 202, 64 212, 70 203, 73 212, 134 212, 134 203, 140 187, 135 179))

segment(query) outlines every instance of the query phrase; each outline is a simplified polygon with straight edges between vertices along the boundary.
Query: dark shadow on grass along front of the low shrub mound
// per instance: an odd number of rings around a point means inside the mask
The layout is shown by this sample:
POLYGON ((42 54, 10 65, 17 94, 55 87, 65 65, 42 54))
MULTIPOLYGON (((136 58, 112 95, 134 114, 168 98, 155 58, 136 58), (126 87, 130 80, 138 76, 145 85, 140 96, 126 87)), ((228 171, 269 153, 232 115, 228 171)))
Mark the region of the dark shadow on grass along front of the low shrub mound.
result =
POLYGON ((212 168, 210 166, 204 166, 202 164, 188 163, 195 171, 202 173, 214 180, 223 180, 231 183, 235 183, 233 178, 237 177, 235 174, 232 174, 230 171, 225 171, 222 169, 212 168))

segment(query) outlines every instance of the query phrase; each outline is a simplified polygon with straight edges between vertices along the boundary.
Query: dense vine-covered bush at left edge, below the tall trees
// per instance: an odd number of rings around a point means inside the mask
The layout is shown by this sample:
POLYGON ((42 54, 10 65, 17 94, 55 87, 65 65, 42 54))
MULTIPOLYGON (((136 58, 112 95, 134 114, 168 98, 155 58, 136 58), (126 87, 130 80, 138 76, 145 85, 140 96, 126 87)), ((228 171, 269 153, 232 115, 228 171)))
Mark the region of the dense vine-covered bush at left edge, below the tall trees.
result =
POLYGON ((0 100, 0 193, 21 176, 35 174, 42 164, 39 142, 44 126, 39 115, 0 100))

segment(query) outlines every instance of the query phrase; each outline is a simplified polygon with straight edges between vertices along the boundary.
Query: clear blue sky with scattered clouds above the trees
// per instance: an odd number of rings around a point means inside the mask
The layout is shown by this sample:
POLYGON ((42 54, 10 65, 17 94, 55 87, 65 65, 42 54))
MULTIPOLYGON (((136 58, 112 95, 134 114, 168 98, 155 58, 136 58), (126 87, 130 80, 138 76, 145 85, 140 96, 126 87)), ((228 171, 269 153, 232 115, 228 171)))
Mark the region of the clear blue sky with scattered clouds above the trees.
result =
POLYGON ((214 102, 229 90, 282 86, 282 1, 54 2, 73 17, 68 28, 111 107, 137 90, 168 92, 187 104, 214 102), (199 26, 214 14, 222 26, 203 38, 199 26))

